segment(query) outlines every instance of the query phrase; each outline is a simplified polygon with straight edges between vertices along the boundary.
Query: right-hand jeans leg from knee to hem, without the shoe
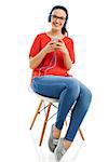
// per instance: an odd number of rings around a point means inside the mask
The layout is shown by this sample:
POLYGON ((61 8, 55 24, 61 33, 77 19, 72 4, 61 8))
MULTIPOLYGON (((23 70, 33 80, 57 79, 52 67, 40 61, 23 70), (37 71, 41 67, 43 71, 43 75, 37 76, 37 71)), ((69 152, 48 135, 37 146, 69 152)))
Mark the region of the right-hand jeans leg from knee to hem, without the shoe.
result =
POLYGON ((69 127, 65 136, 66 139, 70 141, 73 140, 85 113, 87 112, 91 99, 92 99, 91 91, 80 82, 80 94, 71 112, 69 127))

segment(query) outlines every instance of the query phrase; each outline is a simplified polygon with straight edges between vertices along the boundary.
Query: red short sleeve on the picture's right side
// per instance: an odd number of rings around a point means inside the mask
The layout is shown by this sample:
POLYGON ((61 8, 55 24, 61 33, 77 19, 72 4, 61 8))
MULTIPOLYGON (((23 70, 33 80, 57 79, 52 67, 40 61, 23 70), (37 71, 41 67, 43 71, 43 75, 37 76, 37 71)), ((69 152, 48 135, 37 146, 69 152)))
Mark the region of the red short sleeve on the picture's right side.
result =
POLYGON ((67 44, 67 49, 69 51, 69 55, 70 55, 70 58, 71 58, 72 64, 73 64, 76 59, 75 59, 75 49, 73 49, 72 39, 69 39, 68 44, 67 44))

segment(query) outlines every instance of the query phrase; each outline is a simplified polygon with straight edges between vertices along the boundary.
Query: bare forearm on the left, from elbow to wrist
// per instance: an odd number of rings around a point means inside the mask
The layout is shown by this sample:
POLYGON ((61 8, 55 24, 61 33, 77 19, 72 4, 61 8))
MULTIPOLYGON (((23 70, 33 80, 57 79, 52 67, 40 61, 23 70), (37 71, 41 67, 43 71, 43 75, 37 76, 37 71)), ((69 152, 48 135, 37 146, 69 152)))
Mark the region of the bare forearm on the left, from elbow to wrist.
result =
POLYGON ((41 64, 45 55, 46 53, 43 50, 41 50, 35 57, 31 57, 29 59, 29 67, 31 69, 37 68, 41 64))

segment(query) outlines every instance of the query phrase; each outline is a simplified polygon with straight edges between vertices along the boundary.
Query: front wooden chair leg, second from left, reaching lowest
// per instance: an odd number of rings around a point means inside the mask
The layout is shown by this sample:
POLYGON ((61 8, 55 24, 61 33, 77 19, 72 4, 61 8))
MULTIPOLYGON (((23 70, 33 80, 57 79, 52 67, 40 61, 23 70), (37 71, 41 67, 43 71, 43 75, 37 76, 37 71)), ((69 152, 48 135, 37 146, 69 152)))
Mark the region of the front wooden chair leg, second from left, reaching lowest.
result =
POLYGON ((46 127, 46 123, 48 123, 48 119, 49 119, 51 106, 52 106, 52 103, 50 103, 49 106, 48 106, 48 112, 45 114, 45 120, 44 120, 44 124, 43 124, 43 129, 42 129, 42 133, 41 133, 41 138, 40 138, 39 146, 41 146, 42 140, 43 140, 43 136, 44 136, 44 132, 45 132, 45 127, 46 127))

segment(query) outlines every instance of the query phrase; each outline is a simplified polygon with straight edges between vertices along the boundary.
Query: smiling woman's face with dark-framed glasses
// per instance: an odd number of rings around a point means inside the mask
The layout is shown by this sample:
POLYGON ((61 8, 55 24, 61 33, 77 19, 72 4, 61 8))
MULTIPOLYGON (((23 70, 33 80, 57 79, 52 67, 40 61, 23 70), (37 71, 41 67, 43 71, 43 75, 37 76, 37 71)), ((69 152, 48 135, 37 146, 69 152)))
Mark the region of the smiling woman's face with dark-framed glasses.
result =
POLYGON ((66 21, 66 13, 62 9, 55 9, 51 15, 51 25, 54 30, 62 30, 66 21))

